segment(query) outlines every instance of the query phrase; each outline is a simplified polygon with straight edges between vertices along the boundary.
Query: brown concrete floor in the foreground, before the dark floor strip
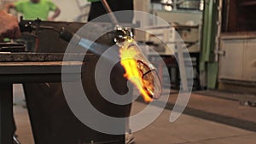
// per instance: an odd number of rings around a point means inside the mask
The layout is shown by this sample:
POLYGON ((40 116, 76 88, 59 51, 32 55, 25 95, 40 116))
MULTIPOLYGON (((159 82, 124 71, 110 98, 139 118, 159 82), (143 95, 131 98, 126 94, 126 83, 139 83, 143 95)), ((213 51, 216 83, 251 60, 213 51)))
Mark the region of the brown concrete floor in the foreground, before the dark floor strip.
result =
MULTIPOLYGON (((136 109, 142 105, 142 103, 135 102, 133 108, 136 109)), ((256 141, 255 132, 186 114, 183 114, 176 122, 170 123, 170 114, 170 110, 164 110, 153 124, 136 132, 137 144, 253 144, 256 141)))

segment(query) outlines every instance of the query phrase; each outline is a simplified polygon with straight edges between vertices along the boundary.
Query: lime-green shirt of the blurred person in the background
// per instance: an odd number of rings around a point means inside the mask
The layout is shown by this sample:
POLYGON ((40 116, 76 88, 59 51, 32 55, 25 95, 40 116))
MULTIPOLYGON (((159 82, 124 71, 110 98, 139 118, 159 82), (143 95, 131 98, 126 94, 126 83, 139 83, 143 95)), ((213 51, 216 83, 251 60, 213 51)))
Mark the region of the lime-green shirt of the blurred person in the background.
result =
POLYGON ((32 3, 30 0, 15 3, 15 8, 23 14, 25 20, 47 20, 49 11, 54 11, 56 6, 49 0, 41 0, 39 3, 32 3))

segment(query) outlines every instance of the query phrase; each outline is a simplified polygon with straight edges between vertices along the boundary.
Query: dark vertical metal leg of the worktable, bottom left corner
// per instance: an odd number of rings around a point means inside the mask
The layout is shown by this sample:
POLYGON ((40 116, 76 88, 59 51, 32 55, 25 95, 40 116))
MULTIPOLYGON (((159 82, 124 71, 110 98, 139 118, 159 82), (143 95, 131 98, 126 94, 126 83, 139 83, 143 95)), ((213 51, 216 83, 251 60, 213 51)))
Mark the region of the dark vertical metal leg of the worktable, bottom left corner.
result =
POLYGON ((0 84, 0 143, 12 144, 14 131, 13 85, 0 84))

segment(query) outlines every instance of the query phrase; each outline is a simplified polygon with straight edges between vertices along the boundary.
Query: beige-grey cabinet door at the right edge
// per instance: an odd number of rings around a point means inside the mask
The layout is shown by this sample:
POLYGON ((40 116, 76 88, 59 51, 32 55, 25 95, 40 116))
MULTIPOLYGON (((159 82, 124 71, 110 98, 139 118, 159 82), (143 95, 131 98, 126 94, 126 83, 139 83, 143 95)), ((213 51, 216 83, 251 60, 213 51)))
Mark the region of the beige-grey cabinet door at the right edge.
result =
POLYGON ((220 80, 256 82, 256 37, 221 37, 220 80))

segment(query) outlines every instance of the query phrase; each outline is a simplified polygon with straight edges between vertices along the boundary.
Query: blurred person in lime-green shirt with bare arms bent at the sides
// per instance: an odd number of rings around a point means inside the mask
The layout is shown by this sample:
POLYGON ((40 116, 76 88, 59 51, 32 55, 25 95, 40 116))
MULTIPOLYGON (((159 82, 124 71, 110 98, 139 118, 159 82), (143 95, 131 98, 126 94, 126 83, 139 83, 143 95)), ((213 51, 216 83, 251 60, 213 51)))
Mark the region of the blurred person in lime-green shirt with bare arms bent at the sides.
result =
POLYGON ((9 9, 15 9, 23 14, 25 20, 35 20, 37 18, 41 20, 55 20, 61 14, 61 9, 49 0, 26 0, 9 3, 6 4, 4 10, 8 13, 9 9), (49 17, 50 11, 53 11, 54 14, 49 17))

